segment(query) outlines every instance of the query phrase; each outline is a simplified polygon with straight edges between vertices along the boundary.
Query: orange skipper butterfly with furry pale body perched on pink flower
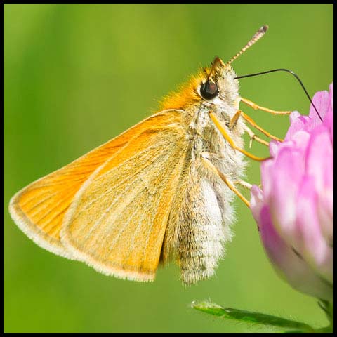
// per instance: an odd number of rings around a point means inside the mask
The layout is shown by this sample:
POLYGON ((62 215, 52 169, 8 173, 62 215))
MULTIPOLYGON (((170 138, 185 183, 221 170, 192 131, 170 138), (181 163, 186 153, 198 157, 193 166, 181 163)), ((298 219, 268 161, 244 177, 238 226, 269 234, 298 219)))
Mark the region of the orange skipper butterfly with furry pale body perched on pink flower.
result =
POLYGON ((231 190, 239 193, 234 182, 248 153, 232 60, 216 58, 161 112, 15 194, 18 227, 106 275, 152 281, 171 259, 186 284, 213 275, 232 235, 231 190))

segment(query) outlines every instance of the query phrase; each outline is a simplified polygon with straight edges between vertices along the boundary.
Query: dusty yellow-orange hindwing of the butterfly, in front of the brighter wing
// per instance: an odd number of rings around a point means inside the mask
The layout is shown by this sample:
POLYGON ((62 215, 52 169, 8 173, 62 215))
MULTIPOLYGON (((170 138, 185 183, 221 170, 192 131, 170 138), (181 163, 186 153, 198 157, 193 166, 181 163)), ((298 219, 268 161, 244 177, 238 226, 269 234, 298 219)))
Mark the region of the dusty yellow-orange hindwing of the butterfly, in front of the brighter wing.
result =
POLYGON ((130 140, 77 192, 61 230, 77 259, 107 275, 154 279, 187 149, 177 118, 130 140))

